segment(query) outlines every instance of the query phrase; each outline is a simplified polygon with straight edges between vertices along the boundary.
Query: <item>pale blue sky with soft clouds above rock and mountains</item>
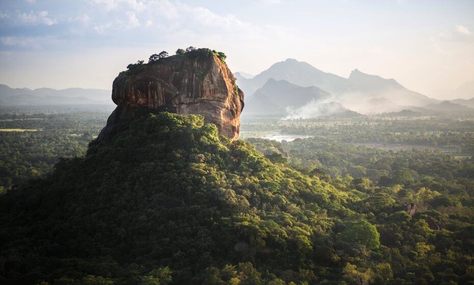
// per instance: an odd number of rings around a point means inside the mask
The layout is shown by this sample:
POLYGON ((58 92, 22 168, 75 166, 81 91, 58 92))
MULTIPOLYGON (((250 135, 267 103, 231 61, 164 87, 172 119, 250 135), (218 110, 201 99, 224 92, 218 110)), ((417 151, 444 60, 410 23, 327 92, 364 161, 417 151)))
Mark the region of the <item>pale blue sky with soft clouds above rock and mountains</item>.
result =
POLYGON ((472 15, 472 0, 0 0, 0 83, 111 89, 129 63, 195 46, 234 72, 294 58, 451 99, 474 80, 472 15))

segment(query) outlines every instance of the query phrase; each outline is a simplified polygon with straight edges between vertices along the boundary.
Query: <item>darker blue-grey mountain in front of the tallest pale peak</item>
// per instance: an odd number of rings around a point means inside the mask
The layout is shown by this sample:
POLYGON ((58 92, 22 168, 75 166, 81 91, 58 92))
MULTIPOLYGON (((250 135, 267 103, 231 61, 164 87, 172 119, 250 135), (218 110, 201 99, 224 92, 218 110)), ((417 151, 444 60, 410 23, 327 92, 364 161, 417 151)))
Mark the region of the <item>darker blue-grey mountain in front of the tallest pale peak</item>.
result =
POLYGON ((285 115, 288 107, 298 108, 313 100, 321 101, 329 97, 329 93, 318 87, 301 87, 286 80, 270 78, 248 99, 245 113, 285 115))

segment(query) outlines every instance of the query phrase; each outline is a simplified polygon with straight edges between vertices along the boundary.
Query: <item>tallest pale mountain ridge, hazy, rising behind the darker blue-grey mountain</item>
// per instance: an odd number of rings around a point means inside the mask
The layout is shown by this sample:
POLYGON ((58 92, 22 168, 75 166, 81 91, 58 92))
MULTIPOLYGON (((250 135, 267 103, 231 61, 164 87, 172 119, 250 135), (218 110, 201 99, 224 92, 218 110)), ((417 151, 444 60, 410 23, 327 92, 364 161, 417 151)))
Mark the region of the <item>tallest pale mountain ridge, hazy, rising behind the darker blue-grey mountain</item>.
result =
MULTIPOLYGON (((255 75, 251 79, 242 76, 236 77, 237 84, 246 94, 253 94, 264 86, 268 79, 286 80, 301 87, 315 86, 332 95, 331 100, 339 102, 346 108, 355 111, 369 110, 372 112, 399 111, 394 106, 418 106, 439 103, 440 101, 429 98, 417 92, 410 91, 394 79, 385 79, 377 75, 365 74, 358 69, 351 72, 349 78, 340 77, 326 73, 314 68, 308 63, 287 59, 278 62, 269 69, 255 75), (378 99, 375 106, 361 105, 361 102, 371 103, 372 99, 378 99), (382 105, 381 99, 386 99, 382 105), (378 111, 380 109, 380 111, 378 111)), ((253 95, 252 95, 253 96, 253 95)), ((252 97, 250 96, 250 97, 252 97)), ((249 97, 249 98, 250 98, 249 97)))

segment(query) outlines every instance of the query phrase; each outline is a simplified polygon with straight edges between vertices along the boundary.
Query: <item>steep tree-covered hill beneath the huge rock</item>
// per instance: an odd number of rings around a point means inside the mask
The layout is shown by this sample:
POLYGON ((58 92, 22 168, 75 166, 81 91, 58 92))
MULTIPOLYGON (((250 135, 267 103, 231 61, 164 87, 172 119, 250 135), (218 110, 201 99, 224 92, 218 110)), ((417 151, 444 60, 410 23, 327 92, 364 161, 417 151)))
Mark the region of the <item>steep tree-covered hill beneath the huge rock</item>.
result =
POLYGON ((334 242, 354 257, 379 248, 376 227, 344 205, 358 196, 272 159, 202 116, 136 117, 85 157, 0 194, 2 281, 314 283, 315 264, 341 276, 334 242))

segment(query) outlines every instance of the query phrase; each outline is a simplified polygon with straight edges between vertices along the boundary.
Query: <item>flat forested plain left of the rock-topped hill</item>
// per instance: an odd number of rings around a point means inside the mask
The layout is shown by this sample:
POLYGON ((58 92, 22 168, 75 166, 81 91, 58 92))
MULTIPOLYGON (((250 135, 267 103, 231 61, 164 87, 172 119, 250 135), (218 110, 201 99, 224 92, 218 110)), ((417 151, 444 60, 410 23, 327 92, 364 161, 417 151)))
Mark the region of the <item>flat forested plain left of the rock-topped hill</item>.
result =
POLYGON ((44 109, 0 114, 0 187, 8 189, 44 177, 60 157, 84 155, 108 115, 44 109))

